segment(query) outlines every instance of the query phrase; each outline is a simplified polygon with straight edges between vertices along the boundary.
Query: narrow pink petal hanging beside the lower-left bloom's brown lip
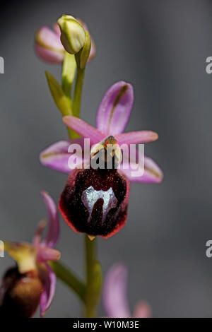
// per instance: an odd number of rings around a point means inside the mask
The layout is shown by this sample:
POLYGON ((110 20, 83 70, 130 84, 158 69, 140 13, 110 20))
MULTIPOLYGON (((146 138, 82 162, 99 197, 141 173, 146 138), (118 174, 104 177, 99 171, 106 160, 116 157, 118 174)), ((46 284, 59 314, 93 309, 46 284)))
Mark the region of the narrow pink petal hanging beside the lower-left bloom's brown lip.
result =
POLYGON ((44 316, 52 303, 55 287, 56 287, 56 275, 50 268, 49 264, 45 263, 46 270, 42 270, 42 284, 44 290, 40 297, 40 316, 44 316))

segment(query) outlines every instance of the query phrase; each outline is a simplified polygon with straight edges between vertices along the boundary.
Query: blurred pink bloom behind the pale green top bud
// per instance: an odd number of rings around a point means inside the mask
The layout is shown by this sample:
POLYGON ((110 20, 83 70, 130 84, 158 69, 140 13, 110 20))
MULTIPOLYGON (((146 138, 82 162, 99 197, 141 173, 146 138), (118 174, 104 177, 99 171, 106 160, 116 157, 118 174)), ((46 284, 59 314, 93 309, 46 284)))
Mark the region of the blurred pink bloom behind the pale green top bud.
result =
MULTIPOLYGON (((84 30, 88 30, 86 23, 78 19, 84 30)), ((42 26, 35 34, 35 52, 44 61, 52 64, 59 64, 64 61, 65 49, 60 40, 61 31, 59 25, 54 23, 53 30, 47 26, 42 26)), ((88 62, 95 57, 95 44, 91 39, 91 49, 88 62)))

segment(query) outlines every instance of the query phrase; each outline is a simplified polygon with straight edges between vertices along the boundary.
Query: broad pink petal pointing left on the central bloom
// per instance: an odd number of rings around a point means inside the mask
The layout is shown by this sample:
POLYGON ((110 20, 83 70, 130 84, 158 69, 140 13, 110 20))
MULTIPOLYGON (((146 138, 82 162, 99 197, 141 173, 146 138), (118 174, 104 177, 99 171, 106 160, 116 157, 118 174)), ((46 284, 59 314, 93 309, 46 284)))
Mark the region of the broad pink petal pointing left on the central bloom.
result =
MULTIPOLYGON (((79 144, 83 148, 83 138, 76 138, 69 141, 59 141, 52 144, 49 148, 40 153, 40 162, 42 165, 69 174, 71 172, 69 158, 71 153, 68 152, 71 144, 79 144)), ((81 160, 83 162, 83 160, 81 160)))

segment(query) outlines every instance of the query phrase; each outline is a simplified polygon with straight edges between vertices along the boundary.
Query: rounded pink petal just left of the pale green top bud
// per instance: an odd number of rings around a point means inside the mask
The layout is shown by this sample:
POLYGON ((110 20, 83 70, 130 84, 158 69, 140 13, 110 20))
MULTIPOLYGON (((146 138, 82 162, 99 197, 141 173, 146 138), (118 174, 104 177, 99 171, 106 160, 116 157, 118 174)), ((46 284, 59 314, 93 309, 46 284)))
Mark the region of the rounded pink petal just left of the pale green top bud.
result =
POLYGON ((36 32, 35 52, 47 62, 59 63, 64 59, 64 47, 59 35, 46 26, 36 32))

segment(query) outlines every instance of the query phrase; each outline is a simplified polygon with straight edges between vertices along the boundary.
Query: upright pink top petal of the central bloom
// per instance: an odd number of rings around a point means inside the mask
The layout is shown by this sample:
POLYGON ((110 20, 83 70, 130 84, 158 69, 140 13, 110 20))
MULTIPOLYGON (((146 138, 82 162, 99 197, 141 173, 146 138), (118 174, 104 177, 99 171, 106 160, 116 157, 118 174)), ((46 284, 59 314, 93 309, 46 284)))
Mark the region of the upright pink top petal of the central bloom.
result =
POLYGON ((100 103, 97 128, 105 135, 117 135, 124 131, 134 102, 131 84, 119 81, 107 90, 100 103))

